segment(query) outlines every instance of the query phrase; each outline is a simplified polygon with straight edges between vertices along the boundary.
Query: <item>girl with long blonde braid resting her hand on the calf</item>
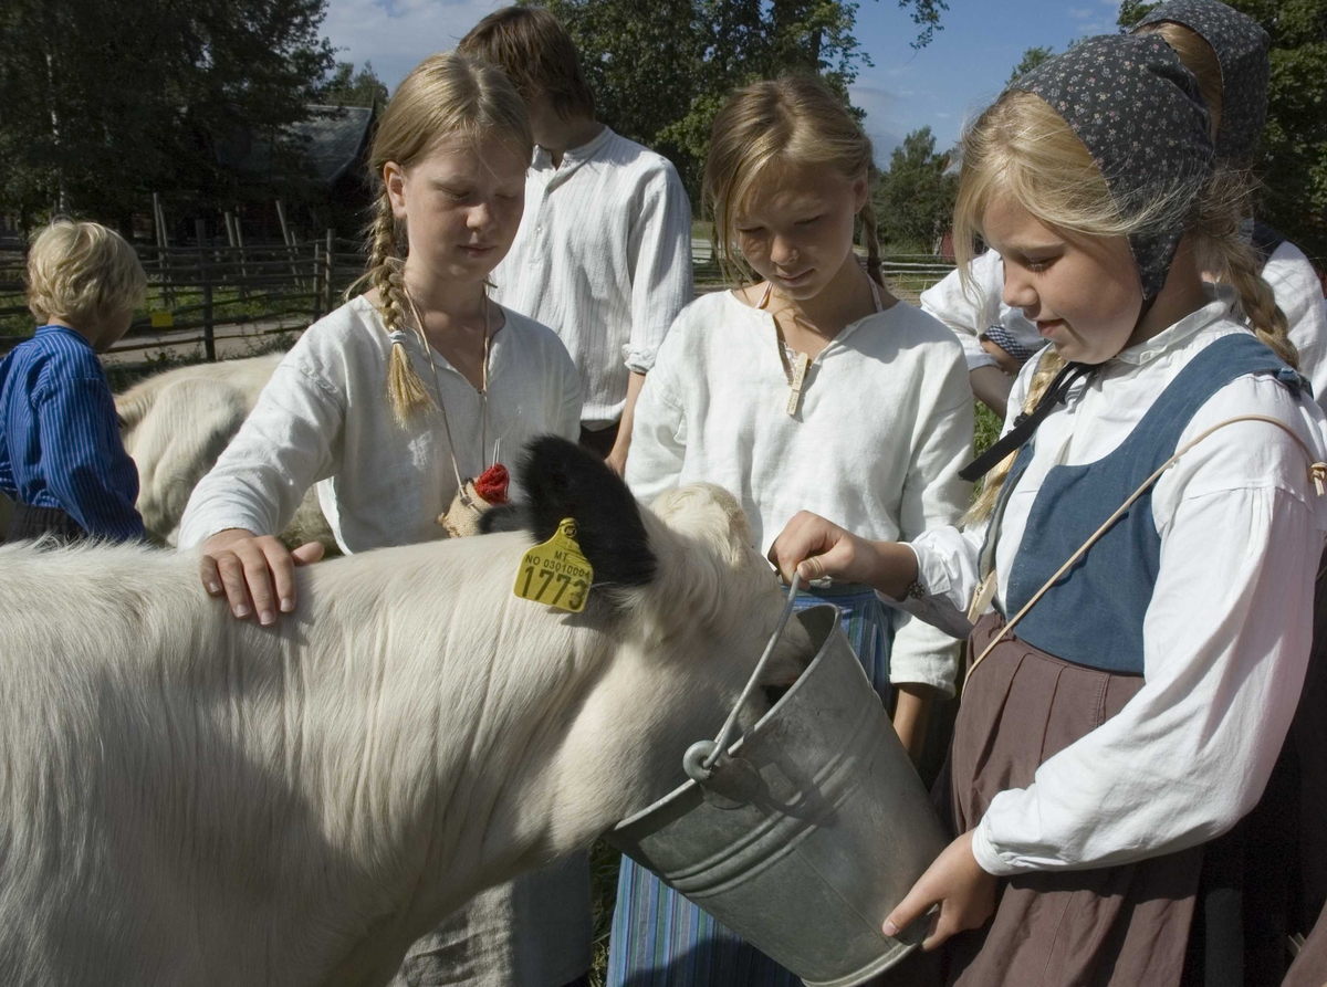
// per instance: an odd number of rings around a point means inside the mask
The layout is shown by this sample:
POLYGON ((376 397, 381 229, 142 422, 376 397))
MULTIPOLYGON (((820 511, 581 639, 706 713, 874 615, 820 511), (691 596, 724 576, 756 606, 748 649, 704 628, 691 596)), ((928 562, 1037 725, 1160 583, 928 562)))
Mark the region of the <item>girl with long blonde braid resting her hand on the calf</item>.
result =
MULTIPOLYGON (((345 552, 427 541, 476 497, 502 497, 499 454, 579 436, 571 356, 487 293, 532 150, 524 103, 479 58, 434 54, 393 94, 370 154, 372 289, 304 333, 180 523, 180 545, 202 545, 203 585, 236 617, 269 625, 295 609, 293 566, 321 547, 288 552, 276 535, 312 484, 345 552), (494 488, 471 482, 495 474, 494 488)), ((478 895, 398 979, 560 987, 589 953, 588 876, 543 870, 478 895)))

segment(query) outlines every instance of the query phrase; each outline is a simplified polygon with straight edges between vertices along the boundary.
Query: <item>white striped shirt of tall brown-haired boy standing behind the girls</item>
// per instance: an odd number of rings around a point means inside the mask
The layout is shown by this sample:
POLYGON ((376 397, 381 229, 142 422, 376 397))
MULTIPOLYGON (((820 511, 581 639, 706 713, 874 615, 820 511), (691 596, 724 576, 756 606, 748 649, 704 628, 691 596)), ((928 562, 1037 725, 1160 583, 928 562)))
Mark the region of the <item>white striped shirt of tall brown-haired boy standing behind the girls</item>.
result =
POLYGON ((543 147, 494 298, 552 326, 580 370, 591 428, 622 417, 632 370, 654 366, 691 301, 691 204, 664 157, 608 127, 561 164, 543 147))

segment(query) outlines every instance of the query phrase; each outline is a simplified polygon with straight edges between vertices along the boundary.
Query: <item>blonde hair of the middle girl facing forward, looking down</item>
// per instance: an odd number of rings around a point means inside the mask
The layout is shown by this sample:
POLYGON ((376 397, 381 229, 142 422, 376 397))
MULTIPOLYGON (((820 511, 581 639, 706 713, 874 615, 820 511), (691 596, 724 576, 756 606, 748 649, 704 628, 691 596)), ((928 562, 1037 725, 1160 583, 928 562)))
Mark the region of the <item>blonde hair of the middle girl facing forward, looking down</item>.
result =
MULTIPOLYGON (((702 192, 714 220, 714 247, 729 277, 754 280, 734 244, 736 215, 747 207, 762 179, 780 167, 820 166, 845 182, 876 178, 871 138, 828 85, 812 76, 766 80, 738 89, 714 118, 702 192)), ((861 208, 867 271, 880 275, 876 210, 867 196, 861 208)))

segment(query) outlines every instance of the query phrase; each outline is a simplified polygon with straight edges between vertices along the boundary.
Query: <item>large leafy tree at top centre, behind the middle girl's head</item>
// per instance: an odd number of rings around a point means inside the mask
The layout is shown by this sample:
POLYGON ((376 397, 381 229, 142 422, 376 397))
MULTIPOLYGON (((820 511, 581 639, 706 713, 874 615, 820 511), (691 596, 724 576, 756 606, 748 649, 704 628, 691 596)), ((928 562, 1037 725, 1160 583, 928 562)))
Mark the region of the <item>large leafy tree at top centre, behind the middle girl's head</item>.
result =
MULTIPOLYGON (((520 0, 539 3, 539 0, 520 0)), ((667 155, 693 199, 710 125, 727 94, 790 72, 821 74, 844 101, 871 60, 851 0, 545 0, 580 48, 598 117, 667 155)), ((941 29, 945 0, 898 0, 918 28, 941 29)))

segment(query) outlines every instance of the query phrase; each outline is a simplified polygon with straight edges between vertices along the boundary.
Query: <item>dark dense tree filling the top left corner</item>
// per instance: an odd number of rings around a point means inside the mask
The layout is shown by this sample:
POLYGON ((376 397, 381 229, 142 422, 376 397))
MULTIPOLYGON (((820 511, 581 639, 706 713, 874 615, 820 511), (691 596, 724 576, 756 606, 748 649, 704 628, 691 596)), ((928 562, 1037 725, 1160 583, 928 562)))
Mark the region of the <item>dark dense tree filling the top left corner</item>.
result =
POLYGON ((7 0, 0 204, 123 226, 154 190, 227 194, 216 145, 303 119, 325 0, 7 0))

